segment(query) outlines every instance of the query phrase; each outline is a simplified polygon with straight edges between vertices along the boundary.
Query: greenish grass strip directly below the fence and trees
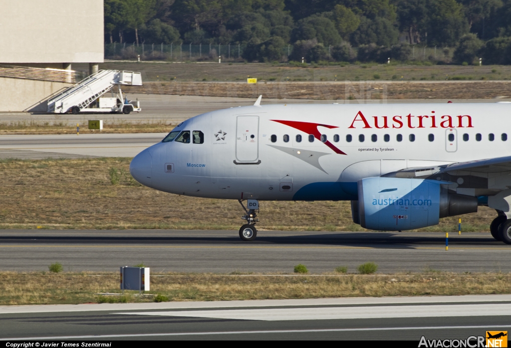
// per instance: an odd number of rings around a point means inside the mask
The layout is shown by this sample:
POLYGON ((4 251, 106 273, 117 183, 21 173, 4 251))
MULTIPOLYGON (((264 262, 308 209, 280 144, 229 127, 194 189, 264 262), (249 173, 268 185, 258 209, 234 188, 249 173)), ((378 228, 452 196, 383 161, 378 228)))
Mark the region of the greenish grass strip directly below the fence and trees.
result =
MULTIPOLYGON (((86 64, 73 64, 73 68, 88 70, 86 64)), ((100 63, 100 69, 129 70, 142 73, 142 80, 177 81, 245 81, 248 75, 259 80, 270 81, 364 81, 374 80, 428 80, 438 81, 453 78, 471 80, 505 80, 511 78, 509 65, 411 65, 411 64, 342 64, 307 65, 272 63, 161 63, 161 62, 111 62, 100 63), (495 73, 492 71, 495 69, 495 73)))

